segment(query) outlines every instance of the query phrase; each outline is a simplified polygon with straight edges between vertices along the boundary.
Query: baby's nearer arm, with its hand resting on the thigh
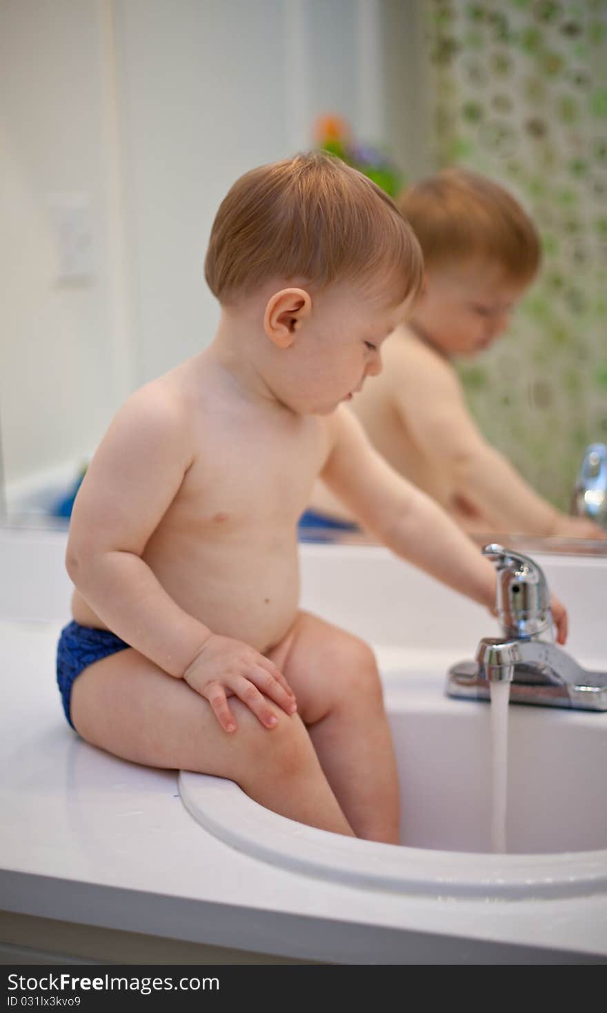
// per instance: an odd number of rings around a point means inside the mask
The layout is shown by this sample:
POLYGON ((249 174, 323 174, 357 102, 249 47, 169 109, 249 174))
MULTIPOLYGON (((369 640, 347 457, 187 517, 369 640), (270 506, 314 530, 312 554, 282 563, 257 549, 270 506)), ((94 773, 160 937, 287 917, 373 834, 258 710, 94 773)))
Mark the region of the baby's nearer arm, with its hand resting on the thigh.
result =
POLYGON ((276 718, 259 690, 288 712, 293 704, 276 666, 247 644, 217 636, 184 612, 142 559, 193 457, 178 399, 157 384, 132 395, 101 442, 76 497, 66 566, 102 622, 164 672, 185 679, 207 697, 226 730, 235 727, 226 700, 230 693, 272 726, 276 718))

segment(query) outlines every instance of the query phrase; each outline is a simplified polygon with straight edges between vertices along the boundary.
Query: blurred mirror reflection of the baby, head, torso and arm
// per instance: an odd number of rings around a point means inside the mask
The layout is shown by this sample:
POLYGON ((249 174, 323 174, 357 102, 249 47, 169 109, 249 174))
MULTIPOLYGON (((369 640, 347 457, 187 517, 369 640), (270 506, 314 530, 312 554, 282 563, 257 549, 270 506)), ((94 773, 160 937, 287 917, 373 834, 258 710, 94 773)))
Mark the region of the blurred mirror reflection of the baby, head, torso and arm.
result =
MULTIPOLYGON (((374 447, 465 531, 604 538, 590 519, 538 495, 483 439, 451 363, 507 327, 537 274, 533 223, 503 186, 461 168, 422 180, 397 204, 420 240, 426 278, 411 316, 384 346, 382 375, 352 404, 374 447)), ((310 525, 315 516, 328 525, 356 520, 321 483, 311 505, 310 525)))

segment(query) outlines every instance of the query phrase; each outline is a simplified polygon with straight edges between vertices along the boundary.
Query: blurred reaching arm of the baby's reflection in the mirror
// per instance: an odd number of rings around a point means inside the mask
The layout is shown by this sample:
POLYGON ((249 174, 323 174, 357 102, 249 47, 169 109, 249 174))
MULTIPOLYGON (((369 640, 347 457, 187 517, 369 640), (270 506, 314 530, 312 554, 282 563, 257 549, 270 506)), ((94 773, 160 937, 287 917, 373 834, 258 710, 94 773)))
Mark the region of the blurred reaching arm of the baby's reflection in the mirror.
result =
POLYGON ((418 447, 453 484, 452 515, 469 531, 604 537, 591 521, 559 513, 483 439, 466 407, 452 366, 411 346, 388 377, 391 398, 418 447))

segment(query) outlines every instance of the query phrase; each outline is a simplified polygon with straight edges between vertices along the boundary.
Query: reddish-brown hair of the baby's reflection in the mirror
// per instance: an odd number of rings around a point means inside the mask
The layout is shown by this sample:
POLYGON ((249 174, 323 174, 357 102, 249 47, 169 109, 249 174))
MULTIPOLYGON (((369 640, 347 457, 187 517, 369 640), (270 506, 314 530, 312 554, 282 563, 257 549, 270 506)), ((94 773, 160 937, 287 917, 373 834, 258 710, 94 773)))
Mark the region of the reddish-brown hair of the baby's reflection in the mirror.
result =
POLYGON ((464 168, 444 169, 398 198, 426 266, 489 260, 510 282, 529 283, 541 253, 537 230, 504 186, 464 168))

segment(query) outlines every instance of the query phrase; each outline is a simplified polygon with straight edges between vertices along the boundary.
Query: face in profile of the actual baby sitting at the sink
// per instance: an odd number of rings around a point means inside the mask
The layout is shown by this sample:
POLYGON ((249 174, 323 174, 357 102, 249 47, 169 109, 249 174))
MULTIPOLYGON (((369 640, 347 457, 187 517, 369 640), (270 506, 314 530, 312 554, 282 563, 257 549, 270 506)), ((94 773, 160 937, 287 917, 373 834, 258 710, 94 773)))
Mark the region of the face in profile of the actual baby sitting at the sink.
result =
POLYGON ((350 401, 381 372, 382 342, 406 312, 386 297, 365 297, 334 285, 312 300, 309 321, 291 350, 288 403, 302 414, 325 415, 350 401))

